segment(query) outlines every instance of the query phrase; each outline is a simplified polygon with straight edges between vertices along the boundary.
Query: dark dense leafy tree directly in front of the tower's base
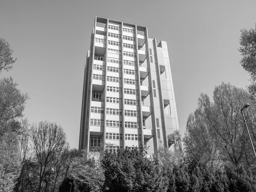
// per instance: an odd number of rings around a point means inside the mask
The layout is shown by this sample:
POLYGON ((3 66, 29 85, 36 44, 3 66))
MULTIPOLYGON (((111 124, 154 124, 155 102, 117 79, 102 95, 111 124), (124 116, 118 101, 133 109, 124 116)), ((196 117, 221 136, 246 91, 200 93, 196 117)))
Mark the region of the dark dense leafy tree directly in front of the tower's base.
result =
POLYGON ((103 191, 108 192, 164 192, 167 178, 145 149, 105 151, 102 160, 105 181, 103 191))

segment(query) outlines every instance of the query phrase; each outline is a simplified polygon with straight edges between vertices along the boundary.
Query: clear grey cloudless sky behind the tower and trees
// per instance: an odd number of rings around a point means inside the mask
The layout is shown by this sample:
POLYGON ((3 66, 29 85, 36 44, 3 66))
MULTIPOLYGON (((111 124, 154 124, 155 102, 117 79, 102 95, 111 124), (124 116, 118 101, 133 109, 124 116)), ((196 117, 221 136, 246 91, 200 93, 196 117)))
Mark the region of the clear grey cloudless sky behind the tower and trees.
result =
POLYGON ((167 41, 181 133, 200 93, 215 85, 246 88, 239 64, 241 29, 254 28, 255 0, 0 0, 0 38, 17 61, 9 72, 28 93, 25 116, 61 125, 78 148, 84 62, 95 16, 148 27, 167 41))

